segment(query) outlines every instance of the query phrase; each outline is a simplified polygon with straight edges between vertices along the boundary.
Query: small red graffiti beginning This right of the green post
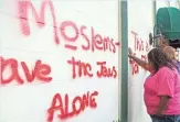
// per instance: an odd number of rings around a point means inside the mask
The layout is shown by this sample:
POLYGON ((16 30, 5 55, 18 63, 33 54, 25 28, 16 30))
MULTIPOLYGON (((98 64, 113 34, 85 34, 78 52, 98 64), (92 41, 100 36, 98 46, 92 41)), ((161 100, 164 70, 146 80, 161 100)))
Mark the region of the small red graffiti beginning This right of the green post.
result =
MULTIPOLYGON (((134 36, 134 42, 135 42, 135 47, 134 47, 135 52, 140 52, 140 53, 149 52, 149 49, 150 49, 149 43, 147 41, 142 41, 138 36, 138 33, 131 31, 131 34, 134 36)), ((134 55, 136 55, 136 53, 134 53, 134 55)), ((140 58, 141 58, 141 60, 147 62, 147 56, 146 55, 141 55, 140 58)), ((129 63, 133 66, 133 75, 139 74, 139 65, 137 63, 135 63, 133 59, 130 59, 129 63)))

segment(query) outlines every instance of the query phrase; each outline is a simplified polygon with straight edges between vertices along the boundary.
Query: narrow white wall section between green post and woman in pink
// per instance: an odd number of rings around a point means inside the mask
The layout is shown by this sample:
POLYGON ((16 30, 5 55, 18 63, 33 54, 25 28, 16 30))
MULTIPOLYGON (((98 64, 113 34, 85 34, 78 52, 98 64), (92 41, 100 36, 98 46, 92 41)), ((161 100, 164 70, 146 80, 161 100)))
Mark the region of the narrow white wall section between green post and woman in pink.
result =
MULTIPOLYGON (((128 44, 141 59, 145 59, 144 56, 147 59, 146 54, 150 49, 149 33, 152 33, 152 1, 128 1, 128 44)), ((149 73, 137 64, 129 63, 128 74, 128 122, 151 122, 144 103, 144 81, 149 73)))

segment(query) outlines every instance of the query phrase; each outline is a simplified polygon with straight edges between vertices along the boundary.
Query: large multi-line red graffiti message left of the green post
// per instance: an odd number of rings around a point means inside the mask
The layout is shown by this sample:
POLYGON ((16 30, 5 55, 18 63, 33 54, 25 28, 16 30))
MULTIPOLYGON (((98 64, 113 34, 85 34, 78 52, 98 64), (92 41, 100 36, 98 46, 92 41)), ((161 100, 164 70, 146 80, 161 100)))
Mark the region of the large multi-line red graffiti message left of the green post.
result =
MULTIPOLYGON (((91 52, 102 51, 102 52, 112 52, 112 53, 117 52, 117 47, 120 45, 119 42, 115 42, 109 36, 103 36, 96 33, 93 26, 91 26, 89 29, 85 25, 77 26, 75 22, 68 21, 68 20, 65 20, 57 24, 52 1, 42 1, 40 12, 36 11, 36 9, 34 8, 31 1, 25 0, 25 1, 18 2, 20 26, 24 35, 29 36, 32 34, 31 27, 29 24, 30 10, 35 19, 35 22, 38 23, 38 26, 39 27, 45 26, 46 7, 50 8, 50 13, 52 16, 52 22, 53 22, 53 32, 52 32, 54 36, 53 40, 56 45, 60 45, 61 41, 64 40, 65 41, 64 47, 72 49, 72 51, 83 49, 86 52, 87 51, 91 51, 91 52), (74 35, 70 35, 67 33, 67 27, 71 27, 74 31, 74 35), (87 31, 89 33, 87 33, 87 31), (83 44, 78 47, 75 42, 77 42, 80 37, 83 38, 85 42, 83 42, 83 44)), ((82 77, 82 76, 93 77, 94 76, 94 74, 92 73, 92 65, 89 63, 76 60, 74 57, 67 60, 67 63, 68 65, 72 66, 73 78, 76 78, 77 76, 78 77, 82 77)), ((99 66, 99 70, 96 71, 96 75, 99 78, 100 77, 114 77, 114 78, 117 77, 117 71, 115 69, 115 66, 113 66, 112 68, 107 68, 106 62, 97 62, 96 65, 99 66)), ((41 60, 36 62, 36 65, 32 74, 30 74, 30 70, 28 66, 25 65, 25 63, 21 63, 21 67, 23 68, 24 75, 29 82, 32 82, 34 78, 39 78, 40 80, 43 80, 43 81, 52 80, 52 77, 49 76, 51 73, 51 67, 49 65, 42 64, 41 60), (39 67, 40 68, 42 67, 44 69, 40 69, 39 67)), ((18 63, 15 66, 12 65, 12 70, 13 70, 13 77, 11 78, 11 80, 3 81, 3 82, 7 84, 15 79, 19 82, 23 84, 23 79, 22 77, 20 77, 18 73, 18 63)), ((49 122, 53 121, 55 112, 60 112, 60 114, 57 115, 59 119, 67 119, 74 115, 78 115, 87 107, 96 108, 97 103, 95 101, 96 100, 95 97, 97 96, 98 96, 97 91, 94 91, 92 93, 88 91, 86 95, 83 95, 83 97, 80 97, 80 96, 75 97, 73 101, 71 102, 68 100, 67 93, 64 96, 64 99, 62 98, 60 93, 56 93, 52 100, 52 104, 50 109, 47 110, 47 121, 49 122), (76 103, 78 103, 80 107, 76 106, 76 103), (72 109, 70 110, 70 108, 72 109)))

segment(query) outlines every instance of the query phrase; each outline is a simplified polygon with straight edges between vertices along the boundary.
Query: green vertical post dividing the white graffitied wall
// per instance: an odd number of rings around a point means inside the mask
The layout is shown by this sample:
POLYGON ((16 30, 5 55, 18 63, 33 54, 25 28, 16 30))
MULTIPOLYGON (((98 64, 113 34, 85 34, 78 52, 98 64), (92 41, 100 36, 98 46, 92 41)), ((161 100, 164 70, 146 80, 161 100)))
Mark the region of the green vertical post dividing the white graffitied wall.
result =
POLYGON ((121 2, 121 122, 128 118, 128 7, 121 2))

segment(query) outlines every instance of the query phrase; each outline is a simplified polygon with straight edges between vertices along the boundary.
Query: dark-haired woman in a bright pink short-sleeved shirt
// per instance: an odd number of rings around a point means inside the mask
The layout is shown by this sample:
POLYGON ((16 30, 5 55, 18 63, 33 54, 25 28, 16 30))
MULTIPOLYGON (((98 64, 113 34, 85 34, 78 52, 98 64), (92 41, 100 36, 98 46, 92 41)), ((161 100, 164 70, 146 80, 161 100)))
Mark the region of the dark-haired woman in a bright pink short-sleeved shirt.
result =
POLYGON ((180 122, 180 75, 161 48, 148 53, 150 76, 144 84, 144 100, 152 122, 180 122))

